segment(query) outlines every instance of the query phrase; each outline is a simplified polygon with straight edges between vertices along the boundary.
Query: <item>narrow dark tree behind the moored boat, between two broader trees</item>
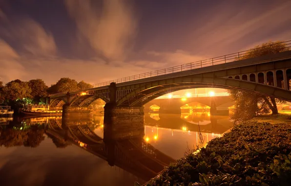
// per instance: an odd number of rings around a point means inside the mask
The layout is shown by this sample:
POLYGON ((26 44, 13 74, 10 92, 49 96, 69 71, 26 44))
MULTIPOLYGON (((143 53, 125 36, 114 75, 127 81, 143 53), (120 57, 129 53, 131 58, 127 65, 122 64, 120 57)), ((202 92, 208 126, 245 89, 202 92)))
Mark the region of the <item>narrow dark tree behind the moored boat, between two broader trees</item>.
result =
POLYGON ((28 86, 31 88, 31 96, 34 102, 39 103, 41 97, 47 96, 48 86, 42 79, 32 79, 28 82, 28 86))

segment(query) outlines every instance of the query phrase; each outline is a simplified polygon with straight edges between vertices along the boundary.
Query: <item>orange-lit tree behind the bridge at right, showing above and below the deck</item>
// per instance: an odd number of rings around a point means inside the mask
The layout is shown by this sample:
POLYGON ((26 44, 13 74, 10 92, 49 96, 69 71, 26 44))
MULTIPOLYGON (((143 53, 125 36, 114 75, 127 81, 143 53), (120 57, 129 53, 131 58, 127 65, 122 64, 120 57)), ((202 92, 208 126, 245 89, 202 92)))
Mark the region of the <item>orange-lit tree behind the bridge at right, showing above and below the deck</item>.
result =
MULTIPOLYGON (((278 53, 287 51, 290 48, 285 46, 282 42, 268 42, 262 45, 251 48, 246 54, 240 56, 239 59, 248 59, 271 53, 278 53)), ((235 109, 231 118, 234 122, 247 120, 254 116, 267 114, 272 111, 272 115, 278 114, 277 102, 283 102, 266 95, 249 93, 245 91, 230 90, 229 93, 234 98, 235 109)))

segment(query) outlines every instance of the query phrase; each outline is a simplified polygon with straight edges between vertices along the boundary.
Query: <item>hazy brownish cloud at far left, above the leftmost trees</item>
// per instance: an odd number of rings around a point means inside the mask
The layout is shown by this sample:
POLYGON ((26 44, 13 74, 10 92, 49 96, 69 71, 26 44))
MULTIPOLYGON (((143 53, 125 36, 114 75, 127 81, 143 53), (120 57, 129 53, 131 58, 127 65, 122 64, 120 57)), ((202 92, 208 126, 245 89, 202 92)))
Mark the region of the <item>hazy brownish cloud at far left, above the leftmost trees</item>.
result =
POLYGON ((0 33, 17 45, 19 53, 38 57, 56 54, 57 47, 52 34, 46 32, 39 23, 29 18, 7 22, 8 26, 1 28, 0 33))

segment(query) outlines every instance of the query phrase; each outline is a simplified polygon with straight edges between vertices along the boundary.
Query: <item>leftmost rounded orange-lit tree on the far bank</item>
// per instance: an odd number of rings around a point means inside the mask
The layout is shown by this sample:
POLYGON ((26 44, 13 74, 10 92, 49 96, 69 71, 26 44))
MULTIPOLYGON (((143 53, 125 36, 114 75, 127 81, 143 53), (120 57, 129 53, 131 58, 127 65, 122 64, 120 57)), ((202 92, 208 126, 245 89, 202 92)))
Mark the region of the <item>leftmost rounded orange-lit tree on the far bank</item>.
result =
POLYGON ((31 88, 27 82, 17 79, 7 83, 2 89, 2 93, 5 100, 16 101, 26 97, 30 98, 31 88))

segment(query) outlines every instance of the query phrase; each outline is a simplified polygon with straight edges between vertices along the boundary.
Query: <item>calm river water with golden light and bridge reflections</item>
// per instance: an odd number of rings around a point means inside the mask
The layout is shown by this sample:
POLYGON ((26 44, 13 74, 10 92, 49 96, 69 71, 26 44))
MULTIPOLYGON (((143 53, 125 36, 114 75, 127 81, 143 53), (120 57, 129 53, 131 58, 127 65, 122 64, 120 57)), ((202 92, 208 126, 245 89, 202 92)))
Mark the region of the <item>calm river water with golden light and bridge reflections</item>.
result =
POLYGON ((227 116, 208 113, 146 114, 140 135, 110 140, 112 131, 103 119, 62 121, 59 116, 1 122, 1 186, 145 183, 166 163, 183 157, 187 148, 206 144, 232 127, 227 116))

